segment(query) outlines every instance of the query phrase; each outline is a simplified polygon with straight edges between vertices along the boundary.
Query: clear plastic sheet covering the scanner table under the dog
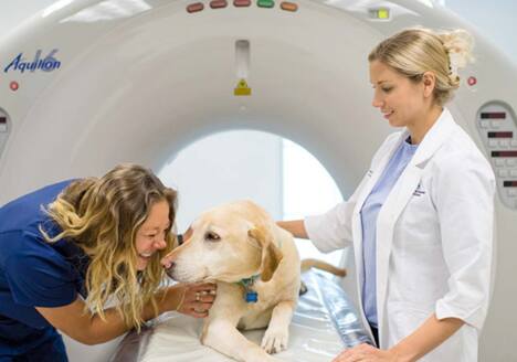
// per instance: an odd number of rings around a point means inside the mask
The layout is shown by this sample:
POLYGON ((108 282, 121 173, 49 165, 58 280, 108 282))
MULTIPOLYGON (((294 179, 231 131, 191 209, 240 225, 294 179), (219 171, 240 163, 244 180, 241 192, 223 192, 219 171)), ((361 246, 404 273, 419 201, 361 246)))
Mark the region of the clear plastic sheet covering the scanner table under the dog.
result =
MULTIPOLYGON (((289 328, 286 351, 275 354, 282 361, 330 361, 347 347, 371 343, 346 292, 333 278, 315 272, 303 275, 308 292, 299 298, 289 328)), ((128 333, 112 362, 230 362, 199 341, 202 320, 176 312, 166 313, 139 334, 128 333)), ((245 331, 260 344, 264 330, 245 331)))

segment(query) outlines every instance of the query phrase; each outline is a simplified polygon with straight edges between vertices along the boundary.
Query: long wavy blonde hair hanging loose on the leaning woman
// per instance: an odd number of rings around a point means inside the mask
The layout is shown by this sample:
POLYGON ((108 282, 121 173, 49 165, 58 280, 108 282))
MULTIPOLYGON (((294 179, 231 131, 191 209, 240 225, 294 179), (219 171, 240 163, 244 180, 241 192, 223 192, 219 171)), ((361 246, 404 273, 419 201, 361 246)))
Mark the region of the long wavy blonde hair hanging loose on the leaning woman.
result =
POLYGON ((105 319, 106 302, 115 298, 128 327, 140 328, 143 308, 151 302, 157 309, 155 292, 165 277, 161 257, 172 247, 170 228, 176 219, 177 193, 166 188, 148 169, 120 164, 102 178, 72 182, 46 212, 60 225, 55 237, 40 227, 48 242, 68 238, 91 258, 86 272, 86 309, 105 319), (138 272, 135 238, 150 207, 166 200, 169 203, 170 227, 167 248, 155 253, 145 270, 138 272))

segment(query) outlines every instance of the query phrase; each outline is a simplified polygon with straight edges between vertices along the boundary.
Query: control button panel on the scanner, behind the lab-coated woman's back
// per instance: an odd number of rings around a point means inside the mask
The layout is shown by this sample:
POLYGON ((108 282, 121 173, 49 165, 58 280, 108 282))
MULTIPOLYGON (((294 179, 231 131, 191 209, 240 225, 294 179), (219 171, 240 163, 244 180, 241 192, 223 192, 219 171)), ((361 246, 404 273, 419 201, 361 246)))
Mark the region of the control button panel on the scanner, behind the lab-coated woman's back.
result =
POLYGON ((517 123, 514 110, 490 102, 477 111, 476 126, 488 149, 503 203, 517 210, 517 123))

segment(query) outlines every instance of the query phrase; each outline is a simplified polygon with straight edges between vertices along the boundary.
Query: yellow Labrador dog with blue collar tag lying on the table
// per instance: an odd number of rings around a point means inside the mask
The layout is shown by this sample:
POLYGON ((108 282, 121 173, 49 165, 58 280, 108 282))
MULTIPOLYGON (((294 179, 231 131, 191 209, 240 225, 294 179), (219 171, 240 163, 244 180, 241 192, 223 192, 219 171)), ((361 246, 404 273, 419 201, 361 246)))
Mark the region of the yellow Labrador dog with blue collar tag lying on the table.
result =
POLYGON ((268 353, 287 347, 300 283, 293 236, 250 201, 210 210, 191 228, 166 259, 178 281, 218 284, 201 342, 238 361, 277 361, 268 353), (264 327, 262 348, 239 331, 264 327))

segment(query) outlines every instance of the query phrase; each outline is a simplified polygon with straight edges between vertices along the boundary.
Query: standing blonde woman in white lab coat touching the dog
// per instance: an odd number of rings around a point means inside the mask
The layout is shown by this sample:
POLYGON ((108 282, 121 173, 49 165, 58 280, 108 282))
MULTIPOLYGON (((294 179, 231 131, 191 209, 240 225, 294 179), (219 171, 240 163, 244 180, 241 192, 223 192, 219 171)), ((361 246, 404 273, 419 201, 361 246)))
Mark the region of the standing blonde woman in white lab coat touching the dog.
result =
POLYGON ((402 31, 370 53, 372 105, 389 136, 349 200, 278 222, 323 252, 354 243, 360 315, 378 348, 335 362, 477 360, 493 269, 495 178, 445 108, 471 58, 462 30, 402 31))

